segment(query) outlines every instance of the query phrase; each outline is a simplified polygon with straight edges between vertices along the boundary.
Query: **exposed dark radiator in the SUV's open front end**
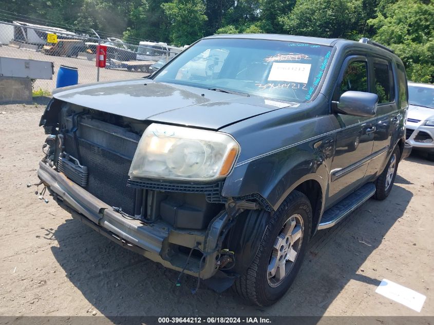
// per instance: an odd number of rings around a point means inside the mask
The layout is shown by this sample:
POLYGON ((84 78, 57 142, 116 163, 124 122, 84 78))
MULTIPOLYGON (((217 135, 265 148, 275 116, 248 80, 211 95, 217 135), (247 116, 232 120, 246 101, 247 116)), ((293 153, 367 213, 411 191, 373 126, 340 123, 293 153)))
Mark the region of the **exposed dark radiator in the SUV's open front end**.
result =
POLYGON ((64 146, 67 154, 79 159, 80 164, 86 167, 87 183, 84 184, 84 174, 80 174, 80 170, 72 166, 73 162, 70 159, 69 163, 65 160, 60 161, 59 169, 103 202, 110 206, 122 207, 122 211, 134 215, 136 189, 127 187, 127 181, 138 139, 129 140, 124 136, 110 134, 101 128, 103 125, 100 121, 96 127, 93 127, 91 121, 84 122, 85 125, 79 123, 77 131, 78 152, 74 145, 73 133, 64 133, 64 146), (104 141, 109 148, 96 143, 97 141, 104 141), (75 173, 71 174, 71 171, 75 173))

